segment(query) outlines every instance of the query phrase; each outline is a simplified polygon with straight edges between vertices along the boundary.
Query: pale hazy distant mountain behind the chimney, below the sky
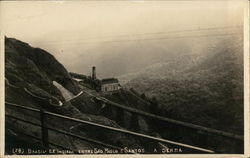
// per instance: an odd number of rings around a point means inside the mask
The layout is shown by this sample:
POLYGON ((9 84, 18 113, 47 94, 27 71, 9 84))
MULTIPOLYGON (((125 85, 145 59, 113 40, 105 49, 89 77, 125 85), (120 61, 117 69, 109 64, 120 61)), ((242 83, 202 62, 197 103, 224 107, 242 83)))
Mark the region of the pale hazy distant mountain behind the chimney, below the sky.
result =
MULTIPOLYGON (((200 36, 197 33, 192 34, 192 36, 195 35, 200 36)), ((160 36, 159 39, 157 38, 153 40, 131 40, 126 42, 114 39, 114 41, 118 42, 103 42, 69 49, 65 48, 64 52, 72 52, 72 55, 68 58, 58 55, 58 58, 61 59, 70 71, 89 74, 90 68, 94 65, 97 68, 97 75, 100 78, 120 76, 138 72, 145 67, 160 62, 171 61, 177 55, 204 52, 207 47, 215 45, 225 37, 216 38, 210 36, 188 39, 168 39, 166 37, 165 39, 165 37, 160 36), (74 62, 70 62, 70 60, 74 62)))

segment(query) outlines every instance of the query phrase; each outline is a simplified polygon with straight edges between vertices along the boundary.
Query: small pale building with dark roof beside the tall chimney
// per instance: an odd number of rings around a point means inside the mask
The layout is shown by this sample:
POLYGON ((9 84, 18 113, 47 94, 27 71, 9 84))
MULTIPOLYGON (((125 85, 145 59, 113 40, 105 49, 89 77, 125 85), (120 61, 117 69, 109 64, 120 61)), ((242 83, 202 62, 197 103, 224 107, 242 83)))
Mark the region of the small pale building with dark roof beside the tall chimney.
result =
POLYGON ((101 80, 101 91, 109 92, 119 90, 120 84, 116 78, 106 78, 101 80))

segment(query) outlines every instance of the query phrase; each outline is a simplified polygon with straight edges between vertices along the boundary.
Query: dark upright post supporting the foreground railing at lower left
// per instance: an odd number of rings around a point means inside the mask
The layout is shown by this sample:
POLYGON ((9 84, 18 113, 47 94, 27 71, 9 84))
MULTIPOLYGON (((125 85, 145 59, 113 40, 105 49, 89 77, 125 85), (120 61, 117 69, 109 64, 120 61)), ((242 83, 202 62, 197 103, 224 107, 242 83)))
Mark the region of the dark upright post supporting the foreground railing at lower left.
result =
POLYGON ((49 133, 48 129, 45 127, 45 119, 44 111, 40 110, 42 144, 45 148, 49 148, 49 133))

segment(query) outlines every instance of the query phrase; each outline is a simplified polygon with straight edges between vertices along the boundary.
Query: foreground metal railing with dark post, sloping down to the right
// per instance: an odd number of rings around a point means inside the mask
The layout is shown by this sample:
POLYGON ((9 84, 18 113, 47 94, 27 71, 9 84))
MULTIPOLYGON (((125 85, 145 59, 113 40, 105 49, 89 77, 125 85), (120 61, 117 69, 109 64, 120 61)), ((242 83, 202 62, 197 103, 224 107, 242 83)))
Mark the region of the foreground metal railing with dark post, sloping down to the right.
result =
MULTIPOLYGON (((41 140, 43 146, 46 147, 46 148, 49 148, 49 145, 53 145, 53 146, 57 146, 59 148, 67 149, 67 147, 64 147, 64 146, 61 146, 61 145, 55 144, 54 142, 49 141, 49 137, 48 137, 49 130, 60 133, 60 134, 63 134, 63 135, 66 135, 66 136, 74 137, 74 138, 77 138, 77 139, 80 139, 80 140, 83 140, 83 141, 87 141, 87 142, 90 142, 90 143, 93 143, 93 144, 96 144, 96 145, 99 145, 99 146, 108 147, 108 148, 111 148, 111 149, 122 149, 123 148, 123 147, 118 147, 118 146, 111 145, 111 144, 108 144, 108 143, 104 143, 104 142, 101 142, 99 140, 85 138, 85 137, 76 135, 74 133, 63 131, 63 130, 60 130, 60 129, 57 129, 57 128, 48 127, 47 122, 46 122, 46 120, 47 120, 46 118, 49 117, 49 116, 53 116, 53 117, 56 117, 56 118, 59 118, 59 119, 64 119, 64 120, 67 120, 67 121, 72 121, 72 122, 75 122, 75 123, 80 123, 80 124, 92 126, 94 128, 97 128, 97 129, 105 129, 105 130, 108 130, 108 131, 117 132, 117 133, 121 133, 121 134, 126 134, 126 135, 133 136, 133 137, 136 137, 136 138, 142 138, 142 139, 145 139, 145 140, 148 140, 148 141, 160 142, 160 143, 164 143, 164 144, 168 144, 168 145, 172 145, 172 146, 179 146, 179 147, 182 147, 182 148, 185 148, 185 149, 188 149, 188 150, 192 150, 192 151, 196 151, 196 152, 199 152, 199 153, 214 153, 214 151, 212 151, 212 150, 208 150, 208 149, 204 149, 204 148, 200 148, 200 147, 196 147, 196 146, 192 146, 192 145, 188 145, 188 144, 184 144, 184 143, 179 143, 179 142, 175 142, 175 141, 171 141, 171 140, 166 140, 166 139, 162 139, 162 138, 158 138, 158 137, 153 137, 153 136, 149 136, 149 135, 145 135, 145 134, 141 134, 141 133, 136 133, 136 132, 120 129, 120 128, 106 126, 106 125, 102 125, 102 124, 98 124, 98 123, 94 123, 94 122, 90 122, 90 121, 84 121, 84 120, 80 120, 80 119, 76 119, 76 118, 71 118, 71 117, 68 117, 68 116, 64 116, 64 115, 60 115, 60 114, 56 114, 56 113, 52 113, 52 112, 48 112, 48 111, 43 111, 43 110, 31 108, 31 107, 26 107, 26 106, 13 104, 13 103, 8 103, 8 102, 6 102, 6 105, 7 105, 6 108, 15 107, 15 108, 23 109, 23 110, 26 110, 26 111, 31 111, 31 112, 34 112, 34 113, 40 113, 40 124, 39 123, 34 123, 32 121, 25 120, 25 119, 22 119, 22 118, 19 118, 19 117, 16 117, 16 116, 12 116, 12 115, 9 115, 9 114, 6 114, 6 118, 7 119, 11 118, 11 119, 19 120, 19 121, 28 123, 30 125, 40 127, 41 128, 41 138, 35 137, 35 139, 41 140)), ((13 108, 11 110, 13 110, 13 108)), ((25 134, 25 133, 23 133, 23 134, 25 134)), ((69 149, 69 150, 71 150, 71 149, 69 149)), ((77 153, 77 151, 75 151, 75 152, 77 153)))

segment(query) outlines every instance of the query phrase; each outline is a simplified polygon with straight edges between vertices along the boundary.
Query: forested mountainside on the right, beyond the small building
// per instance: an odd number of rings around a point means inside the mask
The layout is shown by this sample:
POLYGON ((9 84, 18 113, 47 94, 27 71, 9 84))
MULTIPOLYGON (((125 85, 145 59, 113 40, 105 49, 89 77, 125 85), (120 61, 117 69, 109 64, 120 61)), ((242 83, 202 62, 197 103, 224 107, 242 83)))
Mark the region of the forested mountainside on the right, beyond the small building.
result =
POLYGON ((119 77, 128 88, 158 102, 158 114, 243 133, 243 40, 221 40, 196 54, 119 77))

